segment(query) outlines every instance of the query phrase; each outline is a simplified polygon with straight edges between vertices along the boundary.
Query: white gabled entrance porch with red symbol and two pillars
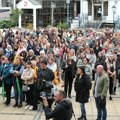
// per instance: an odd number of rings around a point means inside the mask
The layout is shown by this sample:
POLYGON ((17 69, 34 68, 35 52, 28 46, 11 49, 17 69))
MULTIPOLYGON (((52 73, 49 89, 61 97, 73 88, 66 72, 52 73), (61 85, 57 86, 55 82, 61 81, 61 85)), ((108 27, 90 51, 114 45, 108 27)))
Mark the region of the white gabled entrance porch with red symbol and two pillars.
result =
POLYGON ((37 28, 37 9, 42 9, 40 2, 36 0, 22 0, 17 4, 17 8, 23 10, 23 15, 19 15, 19 28, 30 24, 37 28))

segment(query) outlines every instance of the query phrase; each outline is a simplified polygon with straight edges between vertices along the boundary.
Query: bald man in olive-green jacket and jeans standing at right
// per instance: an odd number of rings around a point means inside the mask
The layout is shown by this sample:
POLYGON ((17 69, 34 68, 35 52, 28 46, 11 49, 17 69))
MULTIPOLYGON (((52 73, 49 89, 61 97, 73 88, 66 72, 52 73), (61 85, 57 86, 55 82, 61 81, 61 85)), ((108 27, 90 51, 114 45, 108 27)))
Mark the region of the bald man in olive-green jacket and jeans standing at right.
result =
POLYGON ((97 66, 96 81, 94 84, 93 95, 97 108, 97 120, 107 120, 106 96, 109 88, 109 77, 104 72, 102 65, 97 66))

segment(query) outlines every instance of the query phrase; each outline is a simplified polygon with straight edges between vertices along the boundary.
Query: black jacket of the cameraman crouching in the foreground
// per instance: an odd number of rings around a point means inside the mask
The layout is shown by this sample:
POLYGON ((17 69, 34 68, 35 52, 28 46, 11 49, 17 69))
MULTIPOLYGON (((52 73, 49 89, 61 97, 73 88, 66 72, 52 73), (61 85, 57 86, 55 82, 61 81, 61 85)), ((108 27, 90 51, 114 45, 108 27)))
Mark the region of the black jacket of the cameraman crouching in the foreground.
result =
POLYGON ((45 107, 44 110, 46 118, 53 118, 53 120, 71 120, 73 113, 72 103, 68 99, 58 103, 54 110, 49 107, 45 107))

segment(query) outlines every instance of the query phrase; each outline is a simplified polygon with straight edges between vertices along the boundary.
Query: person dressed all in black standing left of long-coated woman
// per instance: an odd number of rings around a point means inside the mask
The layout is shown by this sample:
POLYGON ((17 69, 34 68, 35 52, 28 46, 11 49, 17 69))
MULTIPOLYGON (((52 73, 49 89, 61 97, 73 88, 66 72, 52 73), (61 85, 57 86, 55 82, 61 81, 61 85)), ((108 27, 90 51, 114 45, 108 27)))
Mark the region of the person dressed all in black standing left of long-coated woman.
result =
POLYGON ((64 91, 66 93, 66 97, 68 95, 68 97, 71 98, 72 83, 76 75, 76 62, 70 55, 68 56, 67 61, 63 63, 62 69, 65 73, 64 91))

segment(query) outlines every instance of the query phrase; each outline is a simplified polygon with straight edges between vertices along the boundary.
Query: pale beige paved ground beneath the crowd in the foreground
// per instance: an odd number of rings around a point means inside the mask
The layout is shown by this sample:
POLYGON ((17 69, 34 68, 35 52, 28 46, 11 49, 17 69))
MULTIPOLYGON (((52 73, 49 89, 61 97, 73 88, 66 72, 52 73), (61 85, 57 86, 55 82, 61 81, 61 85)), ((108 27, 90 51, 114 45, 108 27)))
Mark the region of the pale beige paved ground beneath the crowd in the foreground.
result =
MULTIPOLYGON (((61 89, 60 86, 58 88, 61 89)), ((80 105, 79 103, 75 102, 74 90, 72 91, 71 101, 73 103, 76 118, 78 118, 80 116, 80 105)), ((2 95, 0 95, 0 120, 45 120, 44 112, 24 110, 25 103, 23 103, 22 108, 13 108, 12 106, 14 102, 14 99, 12 99, 10 106, 5 107, 5 105, 3 104, 2 95)), ((97 111, 92 93, 90 97, 90 102, 86 104, 86 110, 87 119, 96 120, 97 111)), ((107 120, 120 120, 120 88, 117 88, 117 95, 113 96, 112 101, 107 98, 107 112, 107 120)), ((72 120, 75 120, 74 117, 72 120)))

